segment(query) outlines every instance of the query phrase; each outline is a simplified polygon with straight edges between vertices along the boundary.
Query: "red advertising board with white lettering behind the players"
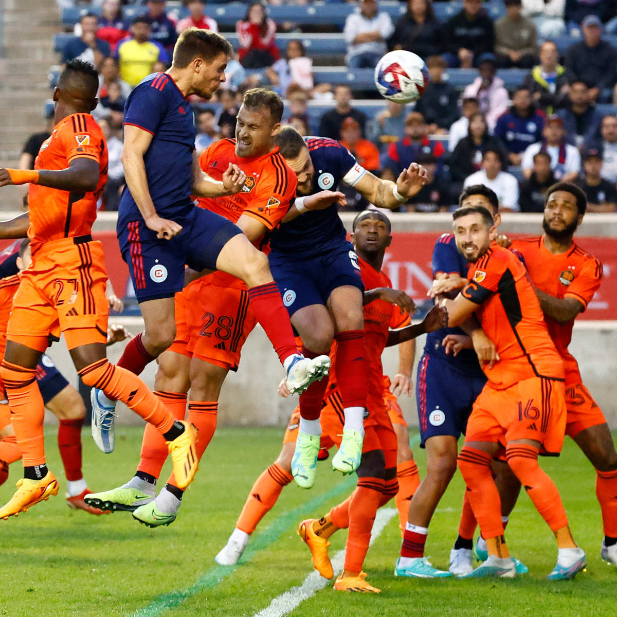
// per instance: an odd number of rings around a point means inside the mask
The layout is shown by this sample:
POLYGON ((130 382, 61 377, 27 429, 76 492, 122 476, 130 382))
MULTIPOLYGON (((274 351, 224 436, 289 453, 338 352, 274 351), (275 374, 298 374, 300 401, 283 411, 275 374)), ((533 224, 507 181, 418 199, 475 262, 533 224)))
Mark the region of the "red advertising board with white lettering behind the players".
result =
MULTIPOLYGON (((114 231, 99 231, 94 238, 103 243, 107 273, 118 296, 133 296, 128 268, 122 260, 114 231)), ((416 304, 426 299, 431 286, 431 255, 437 233, 394 232, 392 246, 386 253, 384 271, 397 289, 404 289, 416 304)), ((576 239, 579 246, 603 263, 604 279, 589 308, 579 318, 617 320, 617 238, 576 239)), ((9 242, 0 242, 0 250, 9 242)))

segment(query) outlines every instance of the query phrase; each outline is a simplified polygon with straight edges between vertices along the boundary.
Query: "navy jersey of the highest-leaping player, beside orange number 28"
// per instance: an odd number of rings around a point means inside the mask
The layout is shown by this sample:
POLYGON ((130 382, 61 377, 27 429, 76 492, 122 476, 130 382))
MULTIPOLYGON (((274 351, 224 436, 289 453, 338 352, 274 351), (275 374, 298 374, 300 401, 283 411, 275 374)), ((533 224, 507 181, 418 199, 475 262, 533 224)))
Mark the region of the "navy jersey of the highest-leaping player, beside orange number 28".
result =
MULTIPOLYGON (((195 126, 191 105, 167 73, 144 78, 126 99, 124 125, 152 133, 144 155, 148 188, 157 214, 175 218, 191 207, 195 126)), ((128 187, 118 207, 122 222, 141 220, 128 187)))

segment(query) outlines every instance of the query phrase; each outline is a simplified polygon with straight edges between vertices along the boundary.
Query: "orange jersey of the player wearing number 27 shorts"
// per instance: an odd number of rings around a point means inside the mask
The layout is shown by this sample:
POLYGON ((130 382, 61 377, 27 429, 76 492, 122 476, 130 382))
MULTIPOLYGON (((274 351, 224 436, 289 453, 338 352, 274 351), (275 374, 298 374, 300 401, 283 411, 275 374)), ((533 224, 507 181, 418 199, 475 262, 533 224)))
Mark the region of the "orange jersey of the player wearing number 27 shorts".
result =
POLYGON ((75 159, 99 165, 96 190, 77 193, 30 184, 28 236, 36 244, 72 236, 85 236, 96 218, 96 202, 107 182, 107 144, 101 127, 90 114, 72 114, 57 123, 35 159, 36 170, 63 170, 75 159))

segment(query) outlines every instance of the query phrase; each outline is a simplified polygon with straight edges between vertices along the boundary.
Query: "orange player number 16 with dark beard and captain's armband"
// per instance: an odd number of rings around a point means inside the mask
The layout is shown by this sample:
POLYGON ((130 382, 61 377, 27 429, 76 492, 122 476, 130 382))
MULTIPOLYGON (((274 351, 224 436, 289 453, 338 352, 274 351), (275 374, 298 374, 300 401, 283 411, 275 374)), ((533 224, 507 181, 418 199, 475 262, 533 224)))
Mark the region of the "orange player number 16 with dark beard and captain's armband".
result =
POLYGON ((538 464, 538 455, 558 455, 566 426, 564 369, 523 263, 496 244, 494 220, 484 207, 453 213, 458 250, 471 264, 468 284, 454 300, 439 297, 449 325, 476 313, 497 350, 467 423, 458 466, 487 543, 487 560, 467 577, 516 576, 503 537, 499 492, 491 472, 505 451, 508 465, 555 533, 557 564, 549 579, 572 578, 586 566, 576 545, 557 487, 538 464))

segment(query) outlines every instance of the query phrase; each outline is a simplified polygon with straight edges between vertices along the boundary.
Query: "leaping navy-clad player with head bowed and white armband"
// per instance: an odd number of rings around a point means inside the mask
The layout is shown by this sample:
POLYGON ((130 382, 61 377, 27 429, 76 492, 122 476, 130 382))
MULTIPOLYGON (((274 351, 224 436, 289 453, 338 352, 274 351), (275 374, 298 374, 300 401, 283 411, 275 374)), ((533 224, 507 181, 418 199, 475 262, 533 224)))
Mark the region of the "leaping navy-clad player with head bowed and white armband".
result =
MULTIPOLYGON (((284 127, 276 143, 298 176, 298 197, 270 240, 270 268, 291 323, 302 338, 304 355, 327 354, 333 339, 336 340, 334 368, 345 426, 332 465, 338 471, 351 473, 360 464, 366 407, 364 288, 357 256, 346 239, 336 202, 323 210, 305 212, 305 199, 343 182, 353 186, 371 204, 392 209, 420 191, 426 182, 426 170, 412 163, 394 183, 366 171, 333 139, 302 138, 293 128, 284 127)), ((319 414, 326 386, 325 380, 316 382, 300 397, 302 418, 291 467, 296 483, 304 488, 315 482, 321 433, 319 414)))

